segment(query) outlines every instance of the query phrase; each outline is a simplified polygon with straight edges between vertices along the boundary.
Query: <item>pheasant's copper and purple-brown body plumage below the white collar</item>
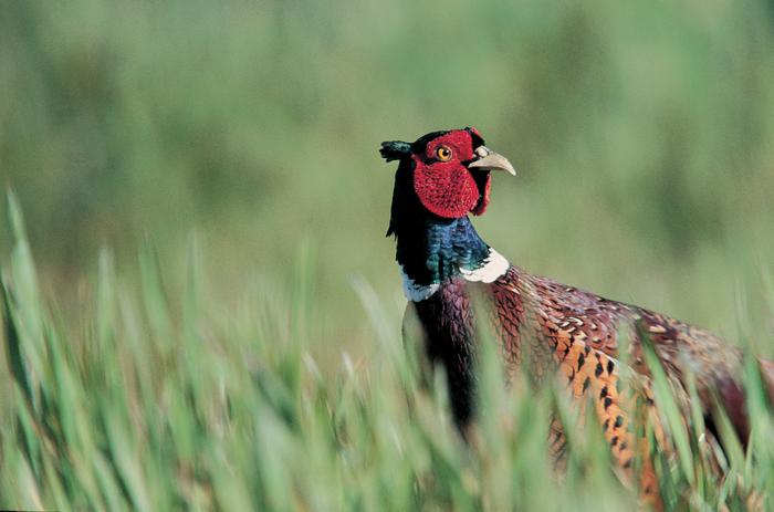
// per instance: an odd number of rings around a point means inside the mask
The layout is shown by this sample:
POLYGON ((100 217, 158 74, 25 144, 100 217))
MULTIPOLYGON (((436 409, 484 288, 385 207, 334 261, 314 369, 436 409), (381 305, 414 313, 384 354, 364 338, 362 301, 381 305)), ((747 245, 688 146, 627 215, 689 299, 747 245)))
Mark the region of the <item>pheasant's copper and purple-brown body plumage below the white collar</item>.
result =
MULTIPOLYGON (((454 278, 441 284, 426 301, 411 303, 425 327, 428 353, 448 372, 454 414, 464 426, 471 418, 474 394, 475 322, 471 295, 489 301, 489 326, 501 344, 510 375, 524 365, 535 378, 559 375, 572 396, 594 401, 596 416, 614 459, 625 479, 635 476, 634 460, 650 447, 637 438, 636 416, 657 418, 650 391, 650 369, 645 347, 650 345, 674 393, 676 403, 690 417, 689 374, 695 382, 701 409, 708 419, 719 403, 742 443, 750 427, 741 385, 743 354, 718 336, 651 311, 606 300, 511 267, 490 284, 454 278), (621 351, 625 336, 630 341, 621 351), (529 358, 527 358, 529 357, 529 358), (621 359, 632 378, 621 394, 621 359), (637 404, 646 410, 638 410, 637 404)), ((761 363, 766 386, 774 390, 774 364, 761 363)), ((640 408, 641 409, 641 408, 640 408)), ((554 451, 564 451, 561 427, 554 421, 554 451)), ((656 438, 669 441, 656 420, 656 438)), ((640 429, 641 431, 641 429, 640 429)), ((715 433, 708 442, 719 446, 715 433)), ((553 445, 552 445, 553 446, 553 445)), ((658 504, 658 482, 648 457, 642 457, 639 488, 644 499, 658 504)))

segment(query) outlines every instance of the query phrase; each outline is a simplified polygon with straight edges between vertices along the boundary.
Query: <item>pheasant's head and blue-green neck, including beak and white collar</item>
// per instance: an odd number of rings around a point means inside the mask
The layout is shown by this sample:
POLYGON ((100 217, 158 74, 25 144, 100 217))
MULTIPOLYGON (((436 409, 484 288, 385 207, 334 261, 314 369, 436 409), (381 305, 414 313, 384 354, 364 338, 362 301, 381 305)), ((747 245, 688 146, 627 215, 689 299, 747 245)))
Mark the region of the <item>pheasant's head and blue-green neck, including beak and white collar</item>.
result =
POLYGON ((396 260, 409 299, 422 300, 457 275, 491 282, 504 271, 506 261, 493 257, 468 213, 487 209, 492 170, 515 171, 484 146, 475 128, 381 143, 380 153, 387 161, 399 160, 387 236, 397 238, 396 260))

